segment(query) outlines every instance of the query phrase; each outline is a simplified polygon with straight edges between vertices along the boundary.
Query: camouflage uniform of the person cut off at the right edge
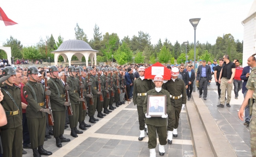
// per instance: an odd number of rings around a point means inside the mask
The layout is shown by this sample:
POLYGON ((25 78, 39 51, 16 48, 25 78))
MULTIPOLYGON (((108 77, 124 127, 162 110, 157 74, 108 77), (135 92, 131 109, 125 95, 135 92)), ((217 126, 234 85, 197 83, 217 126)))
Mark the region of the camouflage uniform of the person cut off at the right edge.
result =
MULTIPOLYGON (((252 98, 256 100, 256 68, 252 68, 247 84, 247 89, 254 90, 252 98)), ((256 102, 252 106, 252 117, 250 119, 250 151, 252 156, 256 156, 256 102)))

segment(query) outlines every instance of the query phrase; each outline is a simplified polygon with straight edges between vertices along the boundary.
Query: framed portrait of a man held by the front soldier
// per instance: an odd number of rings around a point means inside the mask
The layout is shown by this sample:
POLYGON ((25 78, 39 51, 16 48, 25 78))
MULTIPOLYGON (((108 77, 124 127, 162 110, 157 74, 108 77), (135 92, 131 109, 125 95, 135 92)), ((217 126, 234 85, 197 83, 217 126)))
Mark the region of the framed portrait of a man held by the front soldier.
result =
POLYGON ((147 115, 151 117, 166 115, 166 95, 147 96, 147 115))

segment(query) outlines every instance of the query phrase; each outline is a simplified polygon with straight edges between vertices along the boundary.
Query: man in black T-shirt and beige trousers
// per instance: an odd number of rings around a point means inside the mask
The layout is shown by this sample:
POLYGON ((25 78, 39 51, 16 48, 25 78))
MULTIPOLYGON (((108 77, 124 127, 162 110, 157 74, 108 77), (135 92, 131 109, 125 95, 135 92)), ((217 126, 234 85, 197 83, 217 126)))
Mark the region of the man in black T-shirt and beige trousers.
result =
POLYGON ((236 73, 236 66, 233 62, 230 62, 229 56, 223 56, 224 64, 222 66, 221 72, 219 74, 219 84, 221 84, 221 102, 217 107, 224 108, 225 103, 225 90, 227 88, 227 104, 226 106, 230 107, 230 100, 231 100, 231 91, 233 88, 233 79, 236 73))

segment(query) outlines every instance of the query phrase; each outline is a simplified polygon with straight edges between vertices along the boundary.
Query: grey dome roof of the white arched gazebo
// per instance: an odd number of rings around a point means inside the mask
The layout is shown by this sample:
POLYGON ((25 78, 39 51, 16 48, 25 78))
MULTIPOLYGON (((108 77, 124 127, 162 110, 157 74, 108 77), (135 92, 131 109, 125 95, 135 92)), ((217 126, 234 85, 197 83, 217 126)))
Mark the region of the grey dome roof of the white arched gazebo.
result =
POLYGON ((83 40, 67 40, 64 41, 58 49, 52 52, 57 51, 97 51, 92 49, 90 45, 83 40))

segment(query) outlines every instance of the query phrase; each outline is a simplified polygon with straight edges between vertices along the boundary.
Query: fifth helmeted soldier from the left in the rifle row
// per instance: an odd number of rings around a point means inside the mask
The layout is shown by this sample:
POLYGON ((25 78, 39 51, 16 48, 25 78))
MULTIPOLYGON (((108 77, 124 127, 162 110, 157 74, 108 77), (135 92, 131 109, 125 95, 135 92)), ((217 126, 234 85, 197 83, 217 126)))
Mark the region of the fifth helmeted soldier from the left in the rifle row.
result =
MULTIPOLYGON (((85 79, 82 79, 83 75, 85 75, 86 73, 83 71, 83 68, 81 66, 76 67, 77 70, 77 80, 80 82, 80 73, 81 73, 81 83, 84 85, 83 88, 83 96, 86 97, 87 96, 87 91, 86 91, 86 83, 85 83, 85 79)), ((81 90, 79 90, 81 92, 81 90)), ((80 97, 81 97, 81 93, 80 93, 80 97)), ((85 106, 87 106, 87 102, 85 101, 85 106)), ((79 105, 79 118, 78 118, 78 122, 79 122, 79 129, 81 130, 87 130, 85 127, 90 127, 91 125, 88 125, 85 123, 85 116, 86 116, 86 111, 87 108, 83 107, 83 102, 80 102, 79 105), (86 110, 83 110, 86 109, 86 110)))

